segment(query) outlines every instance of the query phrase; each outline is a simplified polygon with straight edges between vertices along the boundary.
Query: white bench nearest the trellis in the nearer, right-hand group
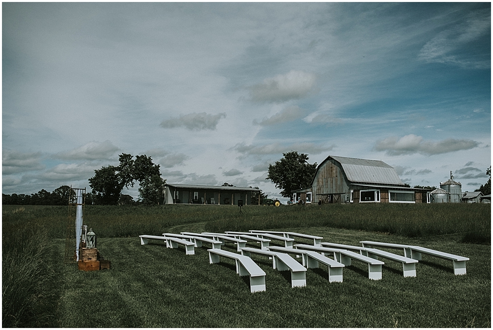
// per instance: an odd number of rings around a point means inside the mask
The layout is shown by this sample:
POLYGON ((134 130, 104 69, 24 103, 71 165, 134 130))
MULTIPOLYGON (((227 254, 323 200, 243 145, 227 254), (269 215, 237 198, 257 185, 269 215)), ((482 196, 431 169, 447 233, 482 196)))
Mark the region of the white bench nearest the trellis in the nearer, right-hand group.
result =
POLYGON ((219 262, 219 257, 228 257, 235 260, 236 273, 240 276, 250 277, 250 292, 265 291, 265 272, 252 259, 237 253, 210 249, 209 263, 219 262))

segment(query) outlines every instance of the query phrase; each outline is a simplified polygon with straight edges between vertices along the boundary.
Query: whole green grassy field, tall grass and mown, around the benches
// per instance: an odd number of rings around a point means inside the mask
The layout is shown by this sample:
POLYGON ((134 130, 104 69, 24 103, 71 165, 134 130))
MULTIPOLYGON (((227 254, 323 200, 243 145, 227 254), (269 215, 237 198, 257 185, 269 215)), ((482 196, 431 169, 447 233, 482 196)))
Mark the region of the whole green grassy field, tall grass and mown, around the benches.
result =
POLYGON ((250 207, 242 214, 218 206, 86 207, 84 221, 111 260, 110 270, 97 272, 62 263, 67 208, 4 206, 2 326, 491 327, 491 208, 409 206, 250 207), (423 256, 416 278, 404 278, 402 265, 386 261, 380 281, 369 280, 367 266, 353 262, 343 283, 329 283, 322 267, 307 271, 307 287, 291 288, 289 272, 252 256, 267 274, 267 291, 252 294, 232 260, 209 264, 208 246, 187 256, 160 242, 141 246, 138 238, 228 229, 285 229, 351 245, 406 242, 470 261, 467 275, 455 276, 451 261, 423 256))

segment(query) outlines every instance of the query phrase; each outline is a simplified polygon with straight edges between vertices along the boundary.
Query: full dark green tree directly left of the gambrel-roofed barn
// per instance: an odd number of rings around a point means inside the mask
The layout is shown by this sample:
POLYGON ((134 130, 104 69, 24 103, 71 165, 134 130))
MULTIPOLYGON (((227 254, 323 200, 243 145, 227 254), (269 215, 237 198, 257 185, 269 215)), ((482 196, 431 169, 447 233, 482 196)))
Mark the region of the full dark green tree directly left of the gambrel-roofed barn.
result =
POLYGON ((282 154, 284 157, 269 164, 269 175, 266 179, 276 184, 276 188, 282 189, 283 197, 290 197, 291 191, 306 188, 312 182, 317 163, 309 164, 308 155, 290 151, 282 154))

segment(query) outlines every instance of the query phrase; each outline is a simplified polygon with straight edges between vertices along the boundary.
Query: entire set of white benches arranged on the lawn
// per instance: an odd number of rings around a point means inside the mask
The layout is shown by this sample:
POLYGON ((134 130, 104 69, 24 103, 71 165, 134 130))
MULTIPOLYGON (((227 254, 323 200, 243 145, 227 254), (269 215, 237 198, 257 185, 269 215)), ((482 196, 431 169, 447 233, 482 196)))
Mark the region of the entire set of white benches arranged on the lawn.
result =
POLYGON ((166 240, 168 248, 176 248, 178 244, 185 247, 187 255, 194 254, 194 247, 202 246, 202 243, 211 243, 212 249, 209 252, 210 263, 219 262, 219 257, 229 257, 235 260, 236 272, 240 276, 250 277, 250 291, 265 291, 265 272, 253 262, 249 255, 251 253, 272 258, 273 268, 279 271, 290 270, 291 286, 306 286, 306 268, 317 268, 319 263, 328 266, 329 282, 342 282, 342 268, 351 265, 352 260, 358 260, 368 264, 368 278, 372 280, 382 279, 383 261, 378 258, 383 257, 389 260, 401 262, 403 265, 404 277, 416 277, 416 263, 421 254, 451 259, 454 262, 454 273, 456 275, 465 274, 465 261, 467 257, 455 256, 436 250, 426 249, 418 246, 391 244, 383 242, 361 241, 362 247, 344 244, 321 242, 321 237, 305 235, 292 232, 226 232, 221 233, 190 233, 181 234, 164 233, 163 236, 140 235, 141 244, 147 244, 149 239, 166 240), (283 236, 275 235, 283 233, 283 236), (289 237, 289 235, 291 237, 289 237), (277 239, 285 243, 284 247, 269 246, 270 239, 277 239), (314 239, 314 245, 296 244, 293 245, 294 238, 314 239), (260 243, 260 249, 247 248, 247 241, 260 243), (237 246, 237 251, 241 254, 221 250, 221 246, 226 242, 232 242, 237 246), (386 247, 403 249, 405 256, 395 255, 386 251, 377 250, 371 247, 386 247), (293 248, 295 247, 295 248, 293 248), (359 253, 357 253, 359 252, 359 253), (290 257, 302 257, 302 264, 290 257), (326 257, 333 255, 334 259, 326 257), (414 258, 412 258, 414 256, 414 258))

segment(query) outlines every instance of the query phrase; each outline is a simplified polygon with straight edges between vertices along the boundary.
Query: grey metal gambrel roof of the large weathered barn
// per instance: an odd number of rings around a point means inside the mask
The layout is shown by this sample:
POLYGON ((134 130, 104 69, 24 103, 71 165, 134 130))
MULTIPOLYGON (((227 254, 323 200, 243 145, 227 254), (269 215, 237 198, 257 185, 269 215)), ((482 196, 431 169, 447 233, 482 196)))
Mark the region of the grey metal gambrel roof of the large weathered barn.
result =
POLYGON ((352 183, 404 185, 395 169, 381 160, 328 156, 318 168, 329 159, 334 159, 341 164, 346 177, 352 183))

